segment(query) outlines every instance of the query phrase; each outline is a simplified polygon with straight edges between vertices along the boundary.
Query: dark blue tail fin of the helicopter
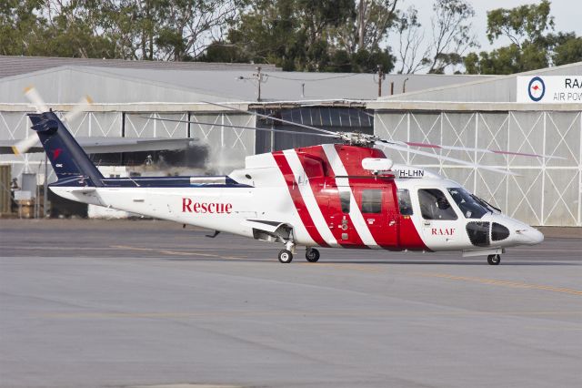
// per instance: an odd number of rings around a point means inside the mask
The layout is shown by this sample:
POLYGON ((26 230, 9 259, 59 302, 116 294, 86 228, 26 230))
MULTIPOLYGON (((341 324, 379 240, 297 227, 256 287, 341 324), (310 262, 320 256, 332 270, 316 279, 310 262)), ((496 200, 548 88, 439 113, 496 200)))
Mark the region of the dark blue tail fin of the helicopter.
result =
POLYGON ((33 113, 28 117, 58 180, 71 180, 76 182, 75 186, 103 186, 103 175, 54 112, 33 113))

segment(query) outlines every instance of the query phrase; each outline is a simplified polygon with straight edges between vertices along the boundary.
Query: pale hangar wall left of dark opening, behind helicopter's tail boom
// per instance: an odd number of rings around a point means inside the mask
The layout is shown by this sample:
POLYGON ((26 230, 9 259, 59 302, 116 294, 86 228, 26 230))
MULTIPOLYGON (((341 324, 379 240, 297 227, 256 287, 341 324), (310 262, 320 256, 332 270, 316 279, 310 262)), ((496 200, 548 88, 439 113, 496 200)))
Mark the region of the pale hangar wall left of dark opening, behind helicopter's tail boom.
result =
MULTIPOLYGON (((240 113, 222 112, 140 112, 140 111, 92 111, 76 117, 67 127, 75 137, 109 138, 195 138, 208 148, 206 165, 212 173, 223 174, 245 165, 245 157, 255 154, 255 133, 244 128, 227 128, 222 124, 255 127, 255 117, 240 113), (156 118, 188 119, 208 124, 162 122, 156 118)), ((23 111, 0 110, 0 139, 13 140, 35 135, 30 121, 23 111)), ((23 156, 0 155, 0 163, 12 166, 12 175, 35 172, 42 176, 45 171, 43 154, 23 156)), ((49 168, 49 182, 55 176, 49 168)))

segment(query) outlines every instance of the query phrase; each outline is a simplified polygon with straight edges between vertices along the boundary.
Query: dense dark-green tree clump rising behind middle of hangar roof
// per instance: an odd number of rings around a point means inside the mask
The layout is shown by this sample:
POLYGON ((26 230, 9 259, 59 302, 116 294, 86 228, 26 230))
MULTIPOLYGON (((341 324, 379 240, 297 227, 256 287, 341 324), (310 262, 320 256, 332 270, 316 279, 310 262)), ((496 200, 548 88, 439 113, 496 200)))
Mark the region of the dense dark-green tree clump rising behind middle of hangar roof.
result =
MULTIPOLYGON (((355 19, 354 0, 256 0, 229 30, 227 44, 212 46, 201 60, 250 59, 287 71, 371 72, 377 65, 391 71, 395 58, 377 40, 369 38, 369 45, 356 51, 357 45, 346 44, 356 39, 349 27, 355 26, 355 19)), ((377 22, 377 17, 366 19, 366 26, 377 22)))

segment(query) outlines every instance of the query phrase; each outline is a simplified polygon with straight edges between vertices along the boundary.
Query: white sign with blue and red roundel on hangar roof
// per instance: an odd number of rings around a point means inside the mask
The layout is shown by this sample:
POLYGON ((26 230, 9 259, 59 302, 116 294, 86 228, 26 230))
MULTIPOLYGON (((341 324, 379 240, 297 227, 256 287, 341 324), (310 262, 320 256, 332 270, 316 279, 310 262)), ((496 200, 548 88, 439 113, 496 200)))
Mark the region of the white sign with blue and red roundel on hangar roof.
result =
POLYGON ((517 102, 582 104, 582 76, 517 77, 517 102))

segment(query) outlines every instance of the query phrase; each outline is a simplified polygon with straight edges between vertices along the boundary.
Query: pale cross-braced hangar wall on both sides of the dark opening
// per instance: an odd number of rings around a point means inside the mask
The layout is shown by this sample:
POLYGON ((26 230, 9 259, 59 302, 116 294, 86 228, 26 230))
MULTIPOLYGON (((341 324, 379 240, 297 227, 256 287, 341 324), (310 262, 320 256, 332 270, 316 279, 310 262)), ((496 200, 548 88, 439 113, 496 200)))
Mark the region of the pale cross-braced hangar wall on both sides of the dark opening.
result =
MULTIPOLYGON (((409 107, 387 110, 384 105, 394 107, 394 103, 375 104, 374 133, 382 138, 470 148, 510 149, 566 158, 537 159, 442 151, 444 155, 464 158, 470 162, 511 168, 521 175, 514 177, 437 162, 436 159, 407 152, 390 154, 397 161, 433 168, 457 180, 467 189, 519 220, 534 225, 582 226, 580 110, 530 111, 523 107, 481 110, 467 105, 458 105, 454 109, 438 109, 426 108, 426 104, 422 103, 406 103, 409 107)), ((135 111, 95 109, 77 117, 70 128, 75 136, 197 138, 209 148, 210 160, 207 165, 213 168, 213 173, 227 173, 233 168, 240 168, 247 155, 253 155, 256 150, 263 150, 262 148, 270 148, 266 144, 266 138, 257 143, 260 136, 256 137, 252 130, 222 126, 227 124, 255 127, 256 117, 236 112, 172 112, 168 111, 170 108, 168 105, 159 104, 157 107, 148 107, 147 112, 138 108, 135 111), (189 118, 208 124, 162 123, 147 117, 189 118)), ((28 127, 25 112, 0 110, 0 138, 24 138, 31 134, 28 127)), ((295 139, 292 140, 287 144, 286 138, 274 138, 273 143, 269 143, 276 148, 290 148, 296 145, 295 139)), ((309 138, 309 141, 314 140, 325 142, 326 139, 309 138)), ((15 177, 24 171, 39 175, 44 173, 44 156, 41 154, 1 156, 0 162, 3 161, 12 164, 12 175, 15 177)), ((52 172, 51 168, 49 170, 52 172)), ((49 181, 53 179, 49 177, 49 181)))

